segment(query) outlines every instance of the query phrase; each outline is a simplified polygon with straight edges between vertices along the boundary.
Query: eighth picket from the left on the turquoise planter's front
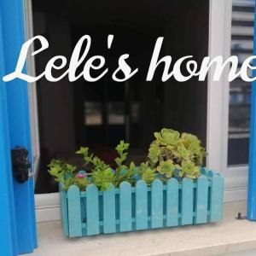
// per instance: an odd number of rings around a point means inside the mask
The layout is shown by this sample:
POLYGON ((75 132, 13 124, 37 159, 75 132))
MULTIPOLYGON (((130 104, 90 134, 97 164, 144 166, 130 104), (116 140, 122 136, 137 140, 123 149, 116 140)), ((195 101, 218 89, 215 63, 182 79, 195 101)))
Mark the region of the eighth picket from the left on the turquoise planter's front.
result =
POLYGON ((183 178, 182 188, 182 224, 193 224, 193 198, 194 198, 194 184, 191 178, 183 178))

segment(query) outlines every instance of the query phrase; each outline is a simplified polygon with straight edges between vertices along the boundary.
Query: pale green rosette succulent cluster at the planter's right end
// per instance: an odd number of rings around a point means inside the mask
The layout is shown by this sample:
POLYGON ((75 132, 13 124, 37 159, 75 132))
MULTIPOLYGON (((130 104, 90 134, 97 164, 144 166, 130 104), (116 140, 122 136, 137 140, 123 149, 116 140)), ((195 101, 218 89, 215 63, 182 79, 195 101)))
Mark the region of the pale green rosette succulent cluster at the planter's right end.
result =
POLYGON ((149 164, 163 180, 172 177, 175 170, 180 177, 199 177, 199 166, 207 153, 195 135, 185 132, 180 135, 178 131, 164 128, 154 132, 154 137, 148 149, 149 164))

